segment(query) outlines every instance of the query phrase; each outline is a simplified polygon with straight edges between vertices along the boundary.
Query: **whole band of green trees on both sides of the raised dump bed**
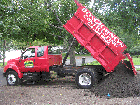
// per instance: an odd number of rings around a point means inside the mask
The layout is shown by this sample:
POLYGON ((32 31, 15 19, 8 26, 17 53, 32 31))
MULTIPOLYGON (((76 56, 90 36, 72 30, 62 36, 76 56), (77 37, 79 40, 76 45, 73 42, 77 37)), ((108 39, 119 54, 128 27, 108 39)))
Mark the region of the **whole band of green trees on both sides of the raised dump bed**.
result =
MULTIPOLYGON (((126 45, 127 52, 140 50, 139 0, 79 0, 126 45)), ((61 45, 67 51, 73 37, 63 24, 77 10, 74 0, 0 0, 1 51, 30 45, 61 45), (38 43, 39 42, 39 43, 38 43)), ((75 42, 71 50, 82 46, 75 42)), ((85 49, 82 50, 86 52, 85 49)), ((87 52, 88 53, 88 52, 87 52)), ((72 61, 71 61, 72 62, 72 61)))

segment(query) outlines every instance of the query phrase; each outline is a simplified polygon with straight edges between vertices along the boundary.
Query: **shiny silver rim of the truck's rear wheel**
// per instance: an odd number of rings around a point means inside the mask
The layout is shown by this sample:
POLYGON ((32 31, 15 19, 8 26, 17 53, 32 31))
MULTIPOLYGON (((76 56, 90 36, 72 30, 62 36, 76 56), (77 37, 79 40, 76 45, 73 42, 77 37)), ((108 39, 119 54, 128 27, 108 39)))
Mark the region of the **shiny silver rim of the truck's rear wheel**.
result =
POLYGON ((83 73, 79 76, 80 85, 91 85, 91 76, 88 73, 83 73))

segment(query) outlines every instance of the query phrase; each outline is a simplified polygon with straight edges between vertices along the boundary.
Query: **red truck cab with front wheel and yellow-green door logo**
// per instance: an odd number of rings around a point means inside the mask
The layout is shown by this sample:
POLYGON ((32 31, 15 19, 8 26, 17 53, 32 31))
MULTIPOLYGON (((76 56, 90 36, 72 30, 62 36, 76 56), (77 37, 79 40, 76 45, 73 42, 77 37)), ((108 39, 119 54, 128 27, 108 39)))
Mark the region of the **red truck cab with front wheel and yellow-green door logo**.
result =
POLYGON ((50 68, 62 65, 62 55, 52 46, 31 46, 20 57, 11 59, 4 67, 7 85, 17 85, 21 80, 49 77, 50 68))

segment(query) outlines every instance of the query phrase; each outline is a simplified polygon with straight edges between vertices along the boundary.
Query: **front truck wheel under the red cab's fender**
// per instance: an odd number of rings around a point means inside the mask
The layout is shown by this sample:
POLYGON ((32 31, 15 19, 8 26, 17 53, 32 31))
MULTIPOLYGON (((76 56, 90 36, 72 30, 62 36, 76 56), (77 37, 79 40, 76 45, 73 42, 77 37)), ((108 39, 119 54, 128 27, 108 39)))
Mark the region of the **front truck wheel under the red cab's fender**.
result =
POLYGON ((7 85, 16 86, 19 85, 20 79, 15 71, 9 71, 6 75, 7 85))

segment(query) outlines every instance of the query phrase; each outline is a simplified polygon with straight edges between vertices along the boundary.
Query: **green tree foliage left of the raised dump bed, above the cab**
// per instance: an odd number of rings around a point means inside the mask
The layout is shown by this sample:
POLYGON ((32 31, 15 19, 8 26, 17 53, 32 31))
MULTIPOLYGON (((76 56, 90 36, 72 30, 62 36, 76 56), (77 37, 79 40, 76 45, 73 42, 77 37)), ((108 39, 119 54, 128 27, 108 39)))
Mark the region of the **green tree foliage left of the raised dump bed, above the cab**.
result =
MULTIPOLYGON (((86 0, 80 2, 88 5, 86 0)), ((0 6, 3 38, 10 38, 18 43, 24 42, 25 46, 42 40, 69 47, 73 37, 63 28, 63 24, 77 9, 73 0, 1 0, 0 6)))

